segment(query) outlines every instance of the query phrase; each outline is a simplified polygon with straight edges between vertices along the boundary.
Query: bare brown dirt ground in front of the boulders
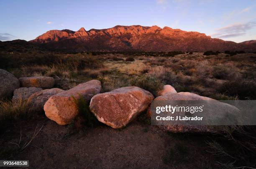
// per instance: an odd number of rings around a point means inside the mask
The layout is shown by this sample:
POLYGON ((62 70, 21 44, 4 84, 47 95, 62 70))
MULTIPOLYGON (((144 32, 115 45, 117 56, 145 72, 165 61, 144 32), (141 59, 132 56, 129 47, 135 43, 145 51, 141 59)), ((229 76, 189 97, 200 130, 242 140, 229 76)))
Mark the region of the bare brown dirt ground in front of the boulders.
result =
POLYGON ((100 125, 71 134, 70 126, 41 115, 6 126, 0 147, 18 149, 8 159, 29 160, 29 168, 35 169, 215 168, 214 157, 206 151, 206 136, 170 134, 146 124, 143 116, 124 129, 100 125))

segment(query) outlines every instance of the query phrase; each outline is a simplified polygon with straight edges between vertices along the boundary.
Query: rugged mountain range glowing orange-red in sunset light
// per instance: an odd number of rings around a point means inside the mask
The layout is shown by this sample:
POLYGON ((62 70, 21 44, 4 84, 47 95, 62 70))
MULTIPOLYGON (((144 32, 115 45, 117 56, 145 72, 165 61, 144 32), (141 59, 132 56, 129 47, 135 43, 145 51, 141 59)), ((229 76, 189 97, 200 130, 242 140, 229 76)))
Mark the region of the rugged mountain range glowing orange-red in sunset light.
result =
POLYGON ((235 43, 204 33, 158 26, 120 26, 108 29, 49 30, 31 40, 48 50, 60 51, 256 51, 256 40, 235 43))

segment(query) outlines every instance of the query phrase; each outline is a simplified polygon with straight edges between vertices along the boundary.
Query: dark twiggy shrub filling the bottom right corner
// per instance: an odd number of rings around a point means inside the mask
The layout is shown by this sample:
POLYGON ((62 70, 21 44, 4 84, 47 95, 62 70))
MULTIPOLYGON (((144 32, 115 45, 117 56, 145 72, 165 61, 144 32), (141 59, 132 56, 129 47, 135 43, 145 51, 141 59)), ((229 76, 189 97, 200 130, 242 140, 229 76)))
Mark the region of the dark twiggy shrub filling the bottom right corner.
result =
POLYGON ((255 126, 223 126, 207 141, 208 152, 220 157, 220 168, 255 168, 255 134, 255 126))

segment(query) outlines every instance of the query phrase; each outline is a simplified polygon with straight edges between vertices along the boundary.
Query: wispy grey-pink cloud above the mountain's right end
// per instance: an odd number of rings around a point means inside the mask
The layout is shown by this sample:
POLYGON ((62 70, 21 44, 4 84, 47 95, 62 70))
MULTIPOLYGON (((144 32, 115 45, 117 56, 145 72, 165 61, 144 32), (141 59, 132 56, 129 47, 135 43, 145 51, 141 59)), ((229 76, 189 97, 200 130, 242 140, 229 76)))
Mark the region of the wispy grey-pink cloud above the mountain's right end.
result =
POLYGON ((231 38, 245 35, 248 30, 256 26, 256 22, 248 22, 244 24, 233 24, 216 29, 216 33, 212 36, 216 38, 231 38))

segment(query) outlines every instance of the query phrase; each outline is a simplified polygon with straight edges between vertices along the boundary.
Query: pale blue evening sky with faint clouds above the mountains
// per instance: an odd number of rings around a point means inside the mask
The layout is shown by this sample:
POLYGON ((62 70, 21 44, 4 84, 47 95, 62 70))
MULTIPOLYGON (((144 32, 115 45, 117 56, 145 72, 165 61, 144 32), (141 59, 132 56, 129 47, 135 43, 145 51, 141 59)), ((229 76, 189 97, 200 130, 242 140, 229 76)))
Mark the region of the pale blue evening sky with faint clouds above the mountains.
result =
POLYGON ((212 38, 256 40, 256 0, 0 0, 0 40, 48 30, 157 25, 212 38))

